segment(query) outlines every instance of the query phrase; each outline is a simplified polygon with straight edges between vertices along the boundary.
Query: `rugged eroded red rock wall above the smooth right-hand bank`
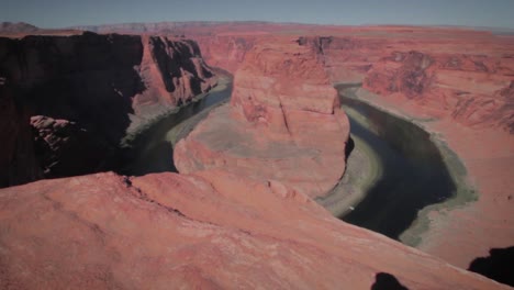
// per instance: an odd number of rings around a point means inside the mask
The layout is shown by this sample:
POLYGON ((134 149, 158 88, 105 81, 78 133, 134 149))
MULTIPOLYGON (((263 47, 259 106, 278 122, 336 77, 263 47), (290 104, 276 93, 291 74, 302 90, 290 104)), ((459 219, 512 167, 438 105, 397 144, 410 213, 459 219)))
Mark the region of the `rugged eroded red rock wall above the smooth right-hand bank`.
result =
POLYGON ((499 58, 437 52, 393 53, 373 64, 364 87, 381 96, 406 98, 470 127, 514 133, 514 66, 499 58), (432 56, 431 56, 432 55, 432 56))

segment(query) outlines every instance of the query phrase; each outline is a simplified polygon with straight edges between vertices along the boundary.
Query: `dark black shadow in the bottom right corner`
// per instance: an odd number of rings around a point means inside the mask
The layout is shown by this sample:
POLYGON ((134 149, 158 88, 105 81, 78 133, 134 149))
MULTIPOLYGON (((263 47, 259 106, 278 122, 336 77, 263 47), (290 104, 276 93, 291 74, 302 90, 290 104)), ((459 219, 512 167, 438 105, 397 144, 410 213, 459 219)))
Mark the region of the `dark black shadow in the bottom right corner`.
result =
POLYGON ((476 258, 468 270, 514 287, 514 246, 492 248, 489 257, 476 258))

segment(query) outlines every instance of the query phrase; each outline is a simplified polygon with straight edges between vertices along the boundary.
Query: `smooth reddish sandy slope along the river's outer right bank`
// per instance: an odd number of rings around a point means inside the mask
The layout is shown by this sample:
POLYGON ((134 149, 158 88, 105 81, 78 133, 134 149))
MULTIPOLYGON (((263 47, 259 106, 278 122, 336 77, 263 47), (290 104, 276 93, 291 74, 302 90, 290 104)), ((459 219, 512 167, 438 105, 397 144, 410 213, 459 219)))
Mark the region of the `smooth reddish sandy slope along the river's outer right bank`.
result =
POLYGON ((491 248, 512 246, 514 137, 494 127, 471 129, 410 101, 382 97, 354 86, 348 94, 410 121, 426 132, 442 153, 457 186, 445 202, 420 211, 401 241, 468 268, 491 248))

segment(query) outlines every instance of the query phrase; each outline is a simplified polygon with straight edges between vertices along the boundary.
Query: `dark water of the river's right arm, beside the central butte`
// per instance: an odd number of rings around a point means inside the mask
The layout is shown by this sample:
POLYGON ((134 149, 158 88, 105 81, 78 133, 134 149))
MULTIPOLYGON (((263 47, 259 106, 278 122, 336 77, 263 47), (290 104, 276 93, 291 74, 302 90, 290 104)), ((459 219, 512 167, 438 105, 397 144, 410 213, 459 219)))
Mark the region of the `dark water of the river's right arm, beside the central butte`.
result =
POLYGON ((381 166, 361 202, 338 217, 399 239, 422 209, 446 201, 457 186, 429 133, 346 96, 348 86, 336 88, 350 120, 351 136, 364 141, 381 166))

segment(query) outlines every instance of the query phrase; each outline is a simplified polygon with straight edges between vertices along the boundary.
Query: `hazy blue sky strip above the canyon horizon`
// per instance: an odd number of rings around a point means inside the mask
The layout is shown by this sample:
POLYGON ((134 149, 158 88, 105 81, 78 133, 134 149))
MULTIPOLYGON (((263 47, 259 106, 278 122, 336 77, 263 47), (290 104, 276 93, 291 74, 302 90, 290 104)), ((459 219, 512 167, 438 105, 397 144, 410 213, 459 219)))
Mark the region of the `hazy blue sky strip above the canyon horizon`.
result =
POLYGON ((514 0, 0 0, 0 22, 42 27, 189 20, 514 29, 514 0))

